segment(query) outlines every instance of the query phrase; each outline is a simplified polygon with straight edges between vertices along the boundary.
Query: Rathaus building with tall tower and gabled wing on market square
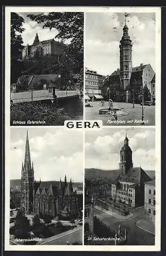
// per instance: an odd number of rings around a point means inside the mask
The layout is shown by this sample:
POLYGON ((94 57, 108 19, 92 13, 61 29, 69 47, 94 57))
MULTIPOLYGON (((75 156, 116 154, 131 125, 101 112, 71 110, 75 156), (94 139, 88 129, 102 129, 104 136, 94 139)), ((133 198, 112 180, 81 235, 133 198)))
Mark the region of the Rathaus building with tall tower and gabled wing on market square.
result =
POLYGON ((103 80, 103 97, 119 102, 140 103, 144 95, 144 101, 155 102, 155 90, 151 85, 155 72, 151 65, 141 63, 140 66, 132 67, 132 40, 128 34, 126 16, 119 48, 120 69, 103 80))

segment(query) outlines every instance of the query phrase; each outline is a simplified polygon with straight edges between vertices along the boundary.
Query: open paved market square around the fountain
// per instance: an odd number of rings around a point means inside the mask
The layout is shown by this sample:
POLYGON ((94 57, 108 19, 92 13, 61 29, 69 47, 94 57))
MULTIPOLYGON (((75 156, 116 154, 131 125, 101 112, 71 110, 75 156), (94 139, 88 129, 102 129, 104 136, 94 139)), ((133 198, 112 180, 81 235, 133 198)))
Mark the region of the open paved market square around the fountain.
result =
MULTIPOLYGON (((104 101, 104 106, 101 106, 100 101, 94 101, 92 108, 85 107, 85 118, 86 120, 102 120, 103 125, 142 125, 142 106, 140 104, 114 102, 113 108, 121 108, 128 114, 125 116, 118 116, 120 123, 112 123, 113 117, 99 115, 100 109, 107 109, 108 102, 104 101), (131 121, 133 120, 133 121, 131 121), (127 122, 128 121, 128 122, 127 122)), ((155 125, 155 105, 144 106, 144 120, 145 125, 155 125)))

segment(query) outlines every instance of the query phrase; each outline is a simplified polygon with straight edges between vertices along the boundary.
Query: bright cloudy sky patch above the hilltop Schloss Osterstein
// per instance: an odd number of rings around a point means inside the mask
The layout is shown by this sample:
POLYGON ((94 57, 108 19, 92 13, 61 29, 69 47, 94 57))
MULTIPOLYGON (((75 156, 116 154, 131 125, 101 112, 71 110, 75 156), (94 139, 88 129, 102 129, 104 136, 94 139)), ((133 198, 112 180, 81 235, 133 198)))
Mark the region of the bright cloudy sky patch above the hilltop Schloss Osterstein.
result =
POLYGON ((18 12, 18 14, 24 18, 23 28, 25 30, 21 33, 24 46, 27 44, 33 44, 36 33, 38 33, 40 41, 52 39, 58 34, 58 30, 55 28, 52 28, 51 30, 49 30, 49 28, 43 29, 43 24, 38 24, 37 22, 27 17, 27 15, 30 13, 18 12))

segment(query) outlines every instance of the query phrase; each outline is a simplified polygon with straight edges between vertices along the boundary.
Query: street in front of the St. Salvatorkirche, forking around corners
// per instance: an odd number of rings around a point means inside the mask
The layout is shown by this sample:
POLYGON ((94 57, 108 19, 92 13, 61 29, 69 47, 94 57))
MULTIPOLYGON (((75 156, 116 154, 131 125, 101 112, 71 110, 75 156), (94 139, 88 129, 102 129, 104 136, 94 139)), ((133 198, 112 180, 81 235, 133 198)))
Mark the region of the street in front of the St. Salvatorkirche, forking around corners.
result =
POLYGON ((122 229, 128 232, 127 245, 154 245, 155 236, 135 226, 135 223, 144 218, 144 207, 132 210, 133 217, 128 220, 120 220, 105 212, 94 208, 94 215, 97 216, 106 225, 110 226, 115 231, 120 225, 122 229))

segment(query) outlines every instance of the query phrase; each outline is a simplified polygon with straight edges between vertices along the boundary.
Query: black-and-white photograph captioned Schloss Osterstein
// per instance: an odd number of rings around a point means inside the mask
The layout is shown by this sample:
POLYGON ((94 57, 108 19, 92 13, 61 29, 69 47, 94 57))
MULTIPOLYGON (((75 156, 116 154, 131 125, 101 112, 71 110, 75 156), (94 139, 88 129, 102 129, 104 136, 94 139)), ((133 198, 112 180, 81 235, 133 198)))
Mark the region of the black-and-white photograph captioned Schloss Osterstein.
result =
POLYGON ((84 13, 11 12, 11 125, 83 118, 84 13))

